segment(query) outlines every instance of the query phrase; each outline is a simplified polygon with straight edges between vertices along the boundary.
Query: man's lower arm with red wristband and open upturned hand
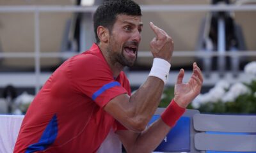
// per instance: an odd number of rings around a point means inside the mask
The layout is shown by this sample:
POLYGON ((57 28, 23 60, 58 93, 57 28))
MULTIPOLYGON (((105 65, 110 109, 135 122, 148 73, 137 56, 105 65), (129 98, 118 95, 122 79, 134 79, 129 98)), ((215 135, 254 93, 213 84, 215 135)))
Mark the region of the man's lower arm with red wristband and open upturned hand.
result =
POLYGON ((202 82, 202 72, 193 64, 193 74, 186 84, 182 83, 184 69, 180 69, 175 84, 174 99, 161 117, 151 124, 145 131, 134 133, 129 130, 119 130, 116 134, 119 136, 127 152, 152 152, 161 143, 170 129, 179 120, 185 108, 200 93, 202 82))

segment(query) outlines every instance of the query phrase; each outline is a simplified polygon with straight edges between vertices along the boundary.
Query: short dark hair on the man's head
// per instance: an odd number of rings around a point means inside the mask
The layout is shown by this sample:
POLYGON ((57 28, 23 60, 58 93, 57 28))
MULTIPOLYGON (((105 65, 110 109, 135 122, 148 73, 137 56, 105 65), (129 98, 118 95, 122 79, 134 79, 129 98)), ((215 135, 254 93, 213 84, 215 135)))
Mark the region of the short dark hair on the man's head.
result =
POLYGON ((96 42, 99 43, 97 28, 101 25, 112 31, 117 15, 141 16, 140 6, 132 0, 109 0, 100 5, 93 15, 96 42))

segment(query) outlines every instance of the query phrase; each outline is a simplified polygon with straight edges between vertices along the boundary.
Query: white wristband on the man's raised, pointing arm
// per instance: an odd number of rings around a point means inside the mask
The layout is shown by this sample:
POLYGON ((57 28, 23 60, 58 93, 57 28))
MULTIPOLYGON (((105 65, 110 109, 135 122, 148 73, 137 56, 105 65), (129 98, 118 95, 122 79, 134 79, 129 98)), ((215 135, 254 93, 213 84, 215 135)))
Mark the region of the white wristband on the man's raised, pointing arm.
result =
POLYGON ((153 66, 148 76, 154 76, 163 80, 164 84, 167 81, 171 64, 164 59, 154 58, 153 66))

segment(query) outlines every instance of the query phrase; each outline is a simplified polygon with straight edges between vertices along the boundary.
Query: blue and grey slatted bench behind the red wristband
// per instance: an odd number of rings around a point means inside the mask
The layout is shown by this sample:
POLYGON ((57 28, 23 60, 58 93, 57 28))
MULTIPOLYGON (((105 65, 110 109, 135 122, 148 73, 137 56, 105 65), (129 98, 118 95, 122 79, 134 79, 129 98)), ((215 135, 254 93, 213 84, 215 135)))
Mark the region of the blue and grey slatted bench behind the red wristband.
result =
MULTIPOLYGON (((158 108, 150 124, 159 119, 158 108)), ((157 152, 255 152, 256 115, 213 115, 186 110, 157 152)))

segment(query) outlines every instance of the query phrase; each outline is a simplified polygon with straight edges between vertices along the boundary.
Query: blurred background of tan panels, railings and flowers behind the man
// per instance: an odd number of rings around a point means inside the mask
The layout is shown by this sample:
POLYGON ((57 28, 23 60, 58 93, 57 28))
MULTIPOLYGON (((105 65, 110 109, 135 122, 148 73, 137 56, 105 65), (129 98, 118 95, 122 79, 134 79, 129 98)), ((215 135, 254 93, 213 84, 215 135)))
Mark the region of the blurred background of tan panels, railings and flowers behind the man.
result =
MULTIPOLYGON (((256 113, 255 0, 135 0, 143 13, 138 61, 125 68, 132 91, 152 66, 152 21, 172 36, 175 52, 163 99, 173 98, 197 62, 202 93, 189 108, 211 113, 256 113)), ((104 0, 0 0, 0 113, 26 113, 51 73, 95 42, 92 15, 104 0)))

